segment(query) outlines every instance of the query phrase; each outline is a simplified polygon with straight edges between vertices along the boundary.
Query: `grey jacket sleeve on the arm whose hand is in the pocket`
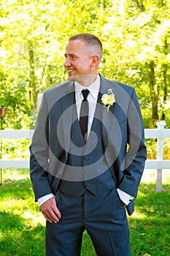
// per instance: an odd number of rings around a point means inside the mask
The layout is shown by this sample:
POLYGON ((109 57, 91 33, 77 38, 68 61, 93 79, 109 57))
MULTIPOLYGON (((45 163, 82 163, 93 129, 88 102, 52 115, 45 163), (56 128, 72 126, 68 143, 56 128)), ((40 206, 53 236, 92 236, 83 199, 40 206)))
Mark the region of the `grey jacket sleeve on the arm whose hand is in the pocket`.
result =
POLYGON ((128 150, 121 166, 123 178, 118 188, 136 197, 144 170, 147 150, 144 145, 142 114, 134 89, 127 110, 127 124, 128 150))

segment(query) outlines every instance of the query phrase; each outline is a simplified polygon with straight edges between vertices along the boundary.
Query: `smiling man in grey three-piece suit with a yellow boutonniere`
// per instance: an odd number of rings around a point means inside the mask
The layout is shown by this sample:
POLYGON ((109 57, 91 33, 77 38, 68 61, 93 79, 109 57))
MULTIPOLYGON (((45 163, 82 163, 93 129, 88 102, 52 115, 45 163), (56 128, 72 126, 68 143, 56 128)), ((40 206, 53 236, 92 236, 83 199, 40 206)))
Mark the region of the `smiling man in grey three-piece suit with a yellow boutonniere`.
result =
POLYGON ((39 109, 30 165, 47 256, 80 255, 85 229, 96 255, 131 255, 125 208, 144 170, 142 116, 132 87, 98 74, 101 56, 93 34, 71 37, 69 83, 45 91, 39 109))

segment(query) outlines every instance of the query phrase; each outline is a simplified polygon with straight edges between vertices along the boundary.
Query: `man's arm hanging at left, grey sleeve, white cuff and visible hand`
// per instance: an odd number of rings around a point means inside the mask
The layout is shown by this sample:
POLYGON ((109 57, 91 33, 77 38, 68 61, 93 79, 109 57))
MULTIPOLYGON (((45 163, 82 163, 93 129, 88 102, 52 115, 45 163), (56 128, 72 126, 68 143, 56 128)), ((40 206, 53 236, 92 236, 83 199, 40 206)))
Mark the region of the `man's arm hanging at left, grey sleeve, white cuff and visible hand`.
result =
POLYGON ((55 196, 48 181, 48 110, 45 94, 39 108, 36 127, 30 146, 30 176, 35 200, 49 222, 58 222, 61 213, 55 203, 55 196), (49 196, 50 195, 50 196, 49 196))

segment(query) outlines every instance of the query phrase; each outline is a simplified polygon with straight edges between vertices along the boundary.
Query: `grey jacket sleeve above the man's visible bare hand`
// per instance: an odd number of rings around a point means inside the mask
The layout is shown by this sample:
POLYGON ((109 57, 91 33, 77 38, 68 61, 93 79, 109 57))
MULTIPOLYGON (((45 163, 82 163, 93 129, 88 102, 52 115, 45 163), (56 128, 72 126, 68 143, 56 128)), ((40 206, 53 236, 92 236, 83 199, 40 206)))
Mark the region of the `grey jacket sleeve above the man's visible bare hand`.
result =
POLYGON ((45 93, 36 119, 34 135, 30 146, 30 176, 35 200, 52 193, 48 181, 48 108, 45 93))

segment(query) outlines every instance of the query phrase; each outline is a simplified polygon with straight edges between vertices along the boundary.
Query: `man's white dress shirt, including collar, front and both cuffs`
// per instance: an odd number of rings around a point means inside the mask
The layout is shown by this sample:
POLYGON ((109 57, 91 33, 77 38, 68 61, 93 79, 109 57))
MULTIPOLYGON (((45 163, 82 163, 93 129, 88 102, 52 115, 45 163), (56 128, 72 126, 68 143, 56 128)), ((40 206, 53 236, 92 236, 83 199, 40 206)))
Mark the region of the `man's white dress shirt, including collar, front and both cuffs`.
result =
MULTIPOLYGON (((88 87, 81 86, 80 83, 77 83, 77 82, 75 82, 74 84, 75 84, 75 99, 76 99, 78 120, 80 118, 80 108, 81 108, 82 99, 83 99, 82 90, 88 89, 89 91, 88 98, 87 98, 88 105, 89 105, 89 113, 88 113, 88 135, 89 135, 91 125, 93 122, 93 116, 96 110, 98 92, 100 89, 100 76, 97 75, 96 80, 94 80, 94 82, 88 87)), ((128 205, 128 203, 130 203, 130 201, 134 198, 120 189, 117 189, 117 193, 120 196, 120 200, 122 200, 123 203, 125 203, 125 205, 128 205)), ((54 196, 53 194, 48 194, 48 195, 45 195, 44 197, 40 197, 38 199, 39 206, 41 206, 42 203, 45 203, 45 201, 47 201, 53 196, 54 196)))

